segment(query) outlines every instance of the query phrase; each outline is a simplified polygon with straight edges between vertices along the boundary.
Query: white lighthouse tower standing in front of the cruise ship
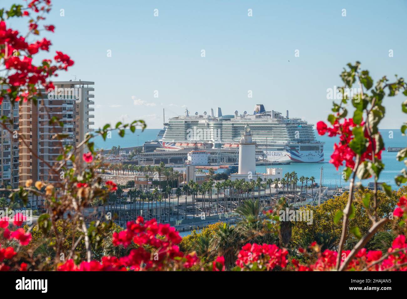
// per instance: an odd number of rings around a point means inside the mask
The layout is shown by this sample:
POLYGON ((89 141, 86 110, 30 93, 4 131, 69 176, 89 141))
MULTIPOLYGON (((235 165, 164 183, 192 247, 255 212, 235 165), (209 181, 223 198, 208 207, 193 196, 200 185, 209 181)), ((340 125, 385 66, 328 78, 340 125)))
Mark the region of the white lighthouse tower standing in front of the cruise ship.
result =
POLYGON ((252 141, 250 126, 246 124, 245 133, 239 142, 239 175, 256 173, 256 143, 252 141))

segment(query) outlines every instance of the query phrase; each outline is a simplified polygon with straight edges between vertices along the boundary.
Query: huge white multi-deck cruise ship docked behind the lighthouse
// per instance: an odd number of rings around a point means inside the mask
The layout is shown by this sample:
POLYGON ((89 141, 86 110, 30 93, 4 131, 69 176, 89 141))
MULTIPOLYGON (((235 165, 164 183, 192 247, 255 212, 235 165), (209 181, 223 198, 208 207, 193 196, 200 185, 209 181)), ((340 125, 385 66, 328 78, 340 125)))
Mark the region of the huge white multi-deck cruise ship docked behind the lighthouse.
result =
MULTIPOLYGON (((270 162, 322 162, 324 142, 315 139, 313 124, 300 118, 289 118, 278 111, 266 111, 257 104, 253 114, 222 115, 221 108, 216 116, 213 109, 208 114, 188 109, 184 116, 170 118, 165 123, 162 148, 167 151, 182 148, 239 148, 239 141, 246 124, 249 125, 256 150, 263 151, 263 159, 270 162)), ((260 152, 261 152, 260 151, 260 152)), ((260 157, 261 158, 261 157, 260 157)))

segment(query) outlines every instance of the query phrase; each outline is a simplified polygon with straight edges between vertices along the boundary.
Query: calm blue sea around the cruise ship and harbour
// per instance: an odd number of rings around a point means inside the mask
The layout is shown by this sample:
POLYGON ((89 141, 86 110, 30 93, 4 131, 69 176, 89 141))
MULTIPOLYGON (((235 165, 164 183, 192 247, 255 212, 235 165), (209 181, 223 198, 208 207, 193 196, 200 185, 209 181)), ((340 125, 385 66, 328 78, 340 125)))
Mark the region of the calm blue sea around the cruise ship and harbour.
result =
MULTIPOLYGON (((160 129, 145 129, 144 131, 136 130, 136 132, 131 133, 130 130, 126 130, 125 136, 120 137, 116 132, 112 132, 112 138, 103 141, 101 136, 95 137, 95 147, 110 149, 112 146, 131 147, 131 146, 141 146, 145 141, 155 140, 160 129)), ((382 152, 382 161, 385 164, 384 170, 381 172, 379 181, 385 182, 392 186, 393 189, 398 189, 398 186, 394 182, 394 177, 405 168, 403 162, 398 162, 396 160, 397 152, 387 152, 387 147, 405 147, 407 146, 407 137, 403 136, 400 129, 391 130, 380 130, 385 143, 385 150, 382 152)), ((319 183, 321 177, 321 167, 323 168, 322 183, 324 186, 348 186, 349 183, 342 179, 343 168, 336 168, 329 163, 330 155, 333 152, 333 145, 338 142, 337 137, 319 136, 315 131, 315 136, 317 140, 325 142, 324 145, 324 162, 318 163, 291 163, 290 165, 281 166, 257 166, 256 171, 264 173, 266 168, 269 167, 280 167, 285 172, 295 171, 300 176, 315 177, 316 182, 319 183)), ((372 179, 363 180, 363 186, 367 186, 368 182, 373 181, 372 179)))

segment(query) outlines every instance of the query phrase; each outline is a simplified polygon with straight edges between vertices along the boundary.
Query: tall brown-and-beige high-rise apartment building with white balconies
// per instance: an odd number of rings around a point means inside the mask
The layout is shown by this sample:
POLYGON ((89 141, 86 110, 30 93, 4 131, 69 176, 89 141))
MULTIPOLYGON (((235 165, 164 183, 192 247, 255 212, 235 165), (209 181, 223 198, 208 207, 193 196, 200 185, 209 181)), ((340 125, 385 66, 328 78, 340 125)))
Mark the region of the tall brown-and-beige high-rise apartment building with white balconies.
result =
MULTIPOLYGON (((20 105, 20 185, 27 179, 46 182, 59 181, 61 173, 51 167, 56 164, 63 145, 80 144, 86 133, 94 131, 94 82, 58 81, 53 82, 55 90, 41 90, 38 104, 20 105), (51 118, 63 122, 50 124, 51 118), (53 136, 57 133, 67 135, 63 140, 53 136), (31 152, 31 153, 30 153, 31 152), (33 155, 32 153, 36 153, 33 155)), ((68 162, 72 166, 71 162, 68 162)))

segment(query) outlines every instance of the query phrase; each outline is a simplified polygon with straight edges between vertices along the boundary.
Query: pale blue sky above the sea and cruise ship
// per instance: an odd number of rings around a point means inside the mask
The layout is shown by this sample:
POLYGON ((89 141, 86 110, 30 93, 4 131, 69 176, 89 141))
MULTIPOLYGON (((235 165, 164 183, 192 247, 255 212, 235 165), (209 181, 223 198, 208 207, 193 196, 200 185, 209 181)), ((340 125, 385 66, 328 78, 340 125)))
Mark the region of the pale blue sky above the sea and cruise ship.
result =
MULTIPOLYGON (((185 107, 251 113, 258 103, 315 124, 346 63, 361 61, 374 79, 407 77, 406 8, 401 0, 53 0, 46 23, 56 27, 52 51, 75 61, 59 79, 95 81, 95 127, 142 118, 160 128, 163 108, 167 118, 185 107)), ((382 129, 400 127, 402 101, 387 100, 382 129)))

